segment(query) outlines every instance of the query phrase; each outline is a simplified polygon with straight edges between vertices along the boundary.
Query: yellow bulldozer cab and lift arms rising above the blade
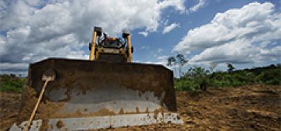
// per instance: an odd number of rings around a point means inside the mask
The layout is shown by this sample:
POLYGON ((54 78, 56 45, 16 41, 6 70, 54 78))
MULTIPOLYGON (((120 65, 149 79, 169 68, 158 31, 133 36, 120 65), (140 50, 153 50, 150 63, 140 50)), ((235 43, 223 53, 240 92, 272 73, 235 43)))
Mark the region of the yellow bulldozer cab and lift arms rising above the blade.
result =
POLYGON ((106 33, 102 33, 102 28, 95 27, 92 42, 89 44, 90 60, 120 63, 131 62, 133 47, 131 46, 130 34, 123 32, 122 37, 108 37, 106 33))

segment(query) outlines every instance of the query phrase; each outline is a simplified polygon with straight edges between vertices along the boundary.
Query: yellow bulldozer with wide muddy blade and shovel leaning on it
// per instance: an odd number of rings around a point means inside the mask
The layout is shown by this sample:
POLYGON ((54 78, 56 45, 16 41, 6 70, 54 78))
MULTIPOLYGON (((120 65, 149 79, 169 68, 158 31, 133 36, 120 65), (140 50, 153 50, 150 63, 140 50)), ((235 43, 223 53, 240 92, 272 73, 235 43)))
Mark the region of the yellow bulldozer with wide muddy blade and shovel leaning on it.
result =
POLYGON ((49 58, 29 65, 17 123, 10 130, 183 123, 177 114, 173 72, 161 65, 134 63, 128 31, 113 38, 94 27, 89 49, 88 60, 49 58))

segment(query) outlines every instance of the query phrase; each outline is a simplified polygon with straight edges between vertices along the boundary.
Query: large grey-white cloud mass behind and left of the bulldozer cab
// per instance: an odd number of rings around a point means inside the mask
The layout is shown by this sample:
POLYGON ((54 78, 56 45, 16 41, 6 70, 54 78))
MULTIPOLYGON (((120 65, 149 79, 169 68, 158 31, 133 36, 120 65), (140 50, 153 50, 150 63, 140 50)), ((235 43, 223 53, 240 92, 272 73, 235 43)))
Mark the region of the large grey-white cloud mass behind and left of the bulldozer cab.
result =
POLYGON ((112 36, 123 29, 144 29, 147 36, 158 29, 168 7, 185 10, 183 0, 0 1, 0 66, 50 56, 87 59, 83 48, 93 26, 112 36))

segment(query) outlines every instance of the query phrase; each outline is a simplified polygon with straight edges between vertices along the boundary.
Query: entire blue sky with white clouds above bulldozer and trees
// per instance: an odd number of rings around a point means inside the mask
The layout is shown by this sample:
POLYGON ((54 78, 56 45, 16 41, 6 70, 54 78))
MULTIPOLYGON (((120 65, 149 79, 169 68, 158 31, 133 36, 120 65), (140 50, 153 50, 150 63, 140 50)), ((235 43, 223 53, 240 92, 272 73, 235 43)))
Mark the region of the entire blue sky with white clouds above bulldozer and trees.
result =
POLYGON ((93 26, 130 31, 133 61, 236 69, 281 63, 281 0, 0 0, 0 73, 49 57, 88 59, 93 26))

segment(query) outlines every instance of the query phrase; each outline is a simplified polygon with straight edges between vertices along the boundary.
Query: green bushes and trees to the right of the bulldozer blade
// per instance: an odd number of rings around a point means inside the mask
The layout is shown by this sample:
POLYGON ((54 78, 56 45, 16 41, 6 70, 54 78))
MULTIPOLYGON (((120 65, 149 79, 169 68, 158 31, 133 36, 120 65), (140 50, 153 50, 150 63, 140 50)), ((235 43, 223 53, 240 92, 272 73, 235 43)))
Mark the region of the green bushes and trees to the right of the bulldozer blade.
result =
POLYGON ((243 86, 248 84, 281 84, 281 66, 271 65, 260 68, 234 70, 227 64, 227 72, 209 72, 201 67, 193 67, 175 78, 177 91, 206 91, 207 87, 243 86))

